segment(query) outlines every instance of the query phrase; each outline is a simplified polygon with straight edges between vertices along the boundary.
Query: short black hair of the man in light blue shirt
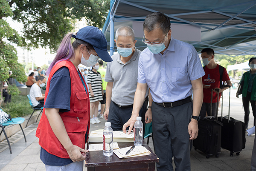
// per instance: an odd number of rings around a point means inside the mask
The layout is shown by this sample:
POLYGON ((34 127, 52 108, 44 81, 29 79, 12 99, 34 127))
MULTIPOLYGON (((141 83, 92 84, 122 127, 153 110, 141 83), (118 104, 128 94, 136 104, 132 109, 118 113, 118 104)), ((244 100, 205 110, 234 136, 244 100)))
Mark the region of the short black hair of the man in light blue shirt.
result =
POLYGON ((171 29, 169 17, 162 12, 148 14, 143 23, 143 31, 150 32, 155 28, 161 28, 164 34, 171 29))

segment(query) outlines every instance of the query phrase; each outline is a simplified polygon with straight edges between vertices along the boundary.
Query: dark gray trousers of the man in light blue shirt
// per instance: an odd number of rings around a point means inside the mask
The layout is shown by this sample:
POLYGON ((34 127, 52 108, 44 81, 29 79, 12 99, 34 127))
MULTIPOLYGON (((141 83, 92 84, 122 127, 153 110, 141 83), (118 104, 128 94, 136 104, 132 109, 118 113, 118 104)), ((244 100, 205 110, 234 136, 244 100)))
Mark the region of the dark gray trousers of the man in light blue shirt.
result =
POLYGON ((154 151, 159 162, 157 171, 173 171, 172 157, 176 171, 190 171, 190 149, 188 125, 192 115, 192 102, 173 108, 152 103, 152 129, 154 151))

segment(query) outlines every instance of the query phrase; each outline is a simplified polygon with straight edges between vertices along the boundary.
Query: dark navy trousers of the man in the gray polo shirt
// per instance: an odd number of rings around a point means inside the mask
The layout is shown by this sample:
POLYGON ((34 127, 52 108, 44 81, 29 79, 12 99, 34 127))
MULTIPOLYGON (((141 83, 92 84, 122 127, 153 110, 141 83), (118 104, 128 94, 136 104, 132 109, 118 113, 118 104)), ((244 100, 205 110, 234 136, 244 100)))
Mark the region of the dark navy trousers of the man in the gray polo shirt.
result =
MULTIPOLYGON (((142 108, 140 109, 140 117, 143 123, 143 136, 145 130, 145 113, 147 111, 147 104, 148 102, 145 100, 143 103, 142 108)), ((130 119, 132 112, 131 108, 119 108, 118 105, 111 101, 108 113, 108 122, 111 122, 111 128, 113 131, 122 131, 123 125, 130 119)), ((128 130, 127 127, 126 130, 128 130)))

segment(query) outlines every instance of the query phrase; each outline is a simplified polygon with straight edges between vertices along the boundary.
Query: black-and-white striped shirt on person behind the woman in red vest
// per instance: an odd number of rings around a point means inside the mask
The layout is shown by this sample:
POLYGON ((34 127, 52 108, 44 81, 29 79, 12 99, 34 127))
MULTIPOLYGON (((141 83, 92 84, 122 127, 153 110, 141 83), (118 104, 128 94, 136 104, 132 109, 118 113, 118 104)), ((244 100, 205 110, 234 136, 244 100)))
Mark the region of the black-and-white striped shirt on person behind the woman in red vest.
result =
POLYGON ((90 102, 103 100, 102 98, 102 78, 99 72, 89 71, 87 75, 87 83, 91 84, 94 97, 91 97, 89 91, 90 102))

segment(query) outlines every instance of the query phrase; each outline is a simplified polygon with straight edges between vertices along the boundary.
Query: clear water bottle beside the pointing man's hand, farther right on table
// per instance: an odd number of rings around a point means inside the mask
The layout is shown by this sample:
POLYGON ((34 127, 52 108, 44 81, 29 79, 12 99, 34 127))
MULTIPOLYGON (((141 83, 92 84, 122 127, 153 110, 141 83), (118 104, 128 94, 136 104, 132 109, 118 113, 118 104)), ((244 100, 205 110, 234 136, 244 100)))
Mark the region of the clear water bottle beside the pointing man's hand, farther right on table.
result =
POLYGON ((134 145, 141 146, 143 140, 143 123, 141 122, 141 117, 136 118, 134 124, 134 145))

